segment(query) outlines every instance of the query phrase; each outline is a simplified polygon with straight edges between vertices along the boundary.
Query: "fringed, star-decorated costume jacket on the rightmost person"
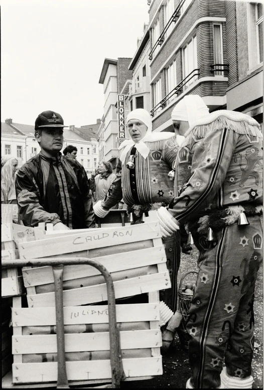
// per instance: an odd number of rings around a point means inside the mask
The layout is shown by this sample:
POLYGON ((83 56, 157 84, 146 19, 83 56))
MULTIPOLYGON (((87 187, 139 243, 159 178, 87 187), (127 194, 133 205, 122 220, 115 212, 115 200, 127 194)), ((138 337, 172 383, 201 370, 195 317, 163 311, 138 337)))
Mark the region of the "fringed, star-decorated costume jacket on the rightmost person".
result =
MULTIPOLYGON (((218 219, 230 224, 241 211, 258 213, 262 204, 261 132, 256 126, 227 118, 206 126, 187 132, 179 151, 175 184, 180 196, 172 204, 175 218, 186 223, 225 209, 218 219)), ((207 219, 200 219, 200 227, 208 226, 207 219)))

